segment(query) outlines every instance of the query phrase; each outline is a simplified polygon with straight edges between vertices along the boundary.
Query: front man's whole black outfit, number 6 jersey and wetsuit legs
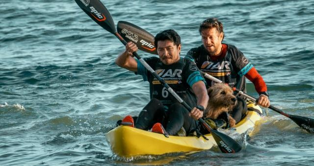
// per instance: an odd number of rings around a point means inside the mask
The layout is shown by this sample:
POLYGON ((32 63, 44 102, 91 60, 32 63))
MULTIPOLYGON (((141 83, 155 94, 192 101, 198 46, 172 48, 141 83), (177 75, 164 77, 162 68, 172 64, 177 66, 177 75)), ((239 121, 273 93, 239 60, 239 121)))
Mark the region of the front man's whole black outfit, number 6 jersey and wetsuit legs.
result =
MULTIPOLYGON (((195 94, 191 87, 198 81, 204 81, 195 63, 187 58, 171 65, 164 65, 159 58, 150 57, 144 60, 156 73, 185 101, 191 108, 197 105, 195 94)), ((150 83, 151 101, 140 112, 135 127, 143 130, 150 129, 160 122, 169 135, 175 135, 183 127, 186 133, 197 127, 197 121, 189 116, 177 99, 137 60, 137 72, 144 81, 150 83)))

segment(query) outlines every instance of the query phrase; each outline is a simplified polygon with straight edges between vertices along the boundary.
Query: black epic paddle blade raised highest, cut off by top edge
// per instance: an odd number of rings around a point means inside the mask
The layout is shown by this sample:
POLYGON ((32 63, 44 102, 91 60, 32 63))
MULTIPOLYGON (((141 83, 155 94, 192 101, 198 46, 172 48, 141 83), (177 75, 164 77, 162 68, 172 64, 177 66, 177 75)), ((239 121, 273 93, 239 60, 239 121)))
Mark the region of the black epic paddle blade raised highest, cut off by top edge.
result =
POLYGON ((112 34, 115 34, 116 28, 109 11, 99 0, 75 0, 78 6, 97 24, 112 34))

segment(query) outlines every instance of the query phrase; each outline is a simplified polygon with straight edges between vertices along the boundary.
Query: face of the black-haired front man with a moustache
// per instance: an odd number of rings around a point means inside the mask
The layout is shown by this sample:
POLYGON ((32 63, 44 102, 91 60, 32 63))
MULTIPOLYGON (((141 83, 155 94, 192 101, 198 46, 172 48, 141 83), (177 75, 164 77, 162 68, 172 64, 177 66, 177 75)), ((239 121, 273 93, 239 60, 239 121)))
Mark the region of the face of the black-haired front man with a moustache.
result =
POLYGON ((163 40, 157 42, 159 59, 165 65, 170 65, 180 59, 181 45, 174 45, 173 41, 163 40))

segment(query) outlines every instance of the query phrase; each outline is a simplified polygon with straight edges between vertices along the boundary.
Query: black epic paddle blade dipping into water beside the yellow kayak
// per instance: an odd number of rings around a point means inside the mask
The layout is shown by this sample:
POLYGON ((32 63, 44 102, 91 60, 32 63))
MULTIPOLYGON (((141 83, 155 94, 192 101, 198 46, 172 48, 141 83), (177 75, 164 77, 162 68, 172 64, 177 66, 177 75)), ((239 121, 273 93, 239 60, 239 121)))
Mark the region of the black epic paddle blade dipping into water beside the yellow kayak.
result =
POLYGON ((242 149, 242 146, 235 139, 216 130, 210 132, 222 153, 236 153, 242 149))

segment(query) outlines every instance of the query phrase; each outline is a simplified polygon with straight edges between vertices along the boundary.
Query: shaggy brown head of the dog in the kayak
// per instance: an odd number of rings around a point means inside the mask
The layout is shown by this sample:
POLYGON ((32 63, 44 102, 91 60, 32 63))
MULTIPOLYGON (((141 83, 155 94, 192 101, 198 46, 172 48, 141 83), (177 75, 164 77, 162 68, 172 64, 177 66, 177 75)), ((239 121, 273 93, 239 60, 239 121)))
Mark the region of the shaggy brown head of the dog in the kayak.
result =
POLYGON ((209 87, 208 95, 208 105, 212 107, 225 107, 230 111, 236 105, 236 97, 233 94, 233 90, 225 83, 215 83, 209 87))

